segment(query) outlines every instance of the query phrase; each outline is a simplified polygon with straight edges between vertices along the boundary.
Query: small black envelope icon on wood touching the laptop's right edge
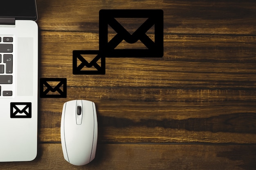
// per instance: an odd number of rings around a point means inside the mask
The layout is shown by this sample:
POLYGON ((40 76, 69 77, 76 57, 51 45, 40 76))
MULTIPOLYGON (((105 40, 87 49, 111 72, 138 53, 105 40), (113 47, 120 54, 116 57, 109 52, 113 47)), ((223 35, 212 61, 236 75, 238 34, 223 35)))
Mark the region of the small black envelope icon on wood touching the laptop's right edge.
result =
POLYGON ((66 78, 41 78, 40 79, 40 97, 41 98, 66 98, 67 97, 67 79, 66 78))

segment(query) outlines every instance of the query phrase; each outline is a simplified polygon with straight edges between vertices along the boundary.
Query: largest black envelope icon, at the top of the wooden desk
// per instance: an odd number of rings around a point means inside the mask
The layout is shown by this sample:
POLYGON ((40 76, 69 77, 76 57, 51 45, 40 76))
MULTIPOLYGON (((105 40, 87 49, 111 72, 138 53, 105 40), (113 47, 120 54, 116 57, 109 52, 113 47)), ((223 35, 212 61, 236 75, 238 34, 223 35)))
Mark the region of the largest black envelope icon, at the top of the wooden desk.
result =
POLYGON ((164 55, 163 10, 101 9, 99 11, 99 51, 106 53, 106 57, 162 57, 164 55), (117 18, 146 18, 146 21, 131 34, 117 21, 117 18), (117 33, 111 40, 108 37, 108 26, 117 33), (154 40, 146 34, 153 26, 155 29, 154 40), (140 41, 146 46, 146 49, 116 48, 122 41, 128 44, 140 41))

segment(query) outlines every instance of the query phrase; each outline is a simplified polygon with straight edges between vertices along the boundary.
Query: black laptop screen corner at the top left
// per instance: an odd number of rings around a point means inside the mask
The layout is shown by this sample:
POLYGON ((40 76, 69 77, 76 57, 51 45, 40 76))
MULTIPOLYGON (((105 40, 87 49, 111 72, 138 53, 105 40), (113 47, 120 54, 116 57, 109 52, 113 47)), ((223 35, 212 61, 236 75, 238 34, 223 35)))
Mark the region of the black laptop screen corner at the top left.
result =
POLYGON ((36 20, 36 0, 0 0, 0 17, 36 20))

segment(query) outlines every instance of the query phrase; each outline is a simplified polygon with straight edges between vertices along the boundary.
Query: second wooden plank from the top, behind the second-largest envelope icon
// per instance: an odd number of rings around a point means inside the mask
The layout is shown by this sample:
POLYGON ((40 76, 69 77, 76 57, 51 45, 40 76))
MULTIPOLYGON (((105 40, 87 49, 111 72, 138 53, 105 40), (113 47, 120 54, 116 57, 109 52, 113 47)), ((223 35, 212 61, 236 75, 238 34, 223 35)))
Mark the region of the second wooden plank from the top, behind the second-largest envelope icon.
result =
POLYGON ((107 58, 106 75, 72 75, 72 51, 97 50, 96 37, 96 33, 41 32, 40 76, 66 77, 69 86, 91 87, 252 88, 256 84, 252 36, 168 35, 162 58, 107 58))

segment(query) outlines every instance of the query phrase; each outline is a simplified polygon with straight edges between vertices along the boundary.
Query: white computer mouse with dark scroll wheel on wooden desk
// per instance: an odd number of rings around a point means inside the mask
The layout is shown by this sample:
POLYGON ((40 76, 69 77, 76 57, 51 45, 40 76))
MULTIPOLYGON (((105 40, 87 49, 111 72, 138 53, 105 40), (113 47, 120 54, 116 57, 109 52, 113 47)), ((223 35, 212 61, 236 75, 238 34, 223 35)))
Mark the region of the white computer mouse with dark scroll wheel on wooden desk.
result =
POLYGON ((66 161, 81 166, 95 157, 98 137, 94 102, 72 100, 63 105, 61 115, 61 145, 66 161))

